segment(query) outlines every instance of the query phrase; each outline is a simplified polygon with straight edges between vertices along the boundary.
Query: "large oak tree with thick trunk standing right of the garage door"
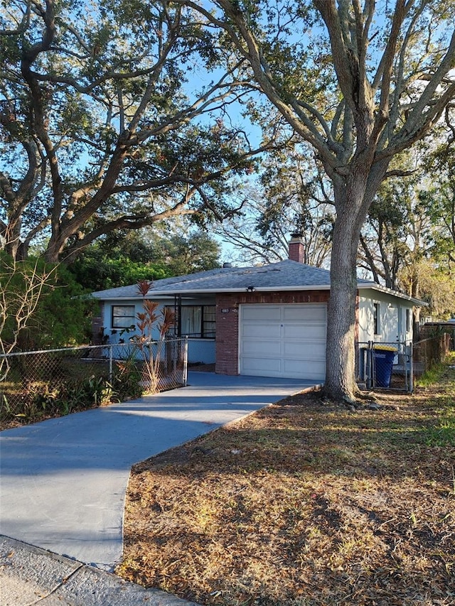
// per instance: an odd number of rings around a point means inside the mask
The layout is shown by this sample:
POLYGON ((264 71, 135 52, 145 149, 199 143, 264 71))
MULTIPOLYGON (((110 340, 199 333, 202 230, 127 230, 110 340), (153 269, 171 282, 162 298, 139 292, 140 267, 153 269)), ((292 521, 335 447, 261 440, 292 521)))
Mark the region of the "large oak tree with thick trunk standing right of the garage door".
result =
POLYGON ((392 158, 455 97, 455 4, 181 1, 230 40, 244 80, 316 149, 333 183, 326 391, 351 398, 360 229, 392 158))

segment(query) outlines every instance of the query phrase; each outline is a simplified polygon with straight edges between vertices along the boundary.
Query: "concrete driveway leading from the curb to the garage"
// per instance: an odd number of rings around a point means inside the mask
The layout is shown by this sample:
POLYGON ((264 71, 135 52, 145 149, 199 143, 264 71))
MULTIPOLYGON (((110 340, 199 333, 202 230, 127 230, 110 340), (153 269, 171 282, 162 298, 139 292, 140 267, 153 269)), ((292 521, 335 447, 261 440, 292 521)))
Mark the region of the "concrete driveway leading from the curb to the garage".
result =
POLYGON ((312 385, 193 372, 183 389, 3 431, 0 532, 112 570, 135 462, 312 385))

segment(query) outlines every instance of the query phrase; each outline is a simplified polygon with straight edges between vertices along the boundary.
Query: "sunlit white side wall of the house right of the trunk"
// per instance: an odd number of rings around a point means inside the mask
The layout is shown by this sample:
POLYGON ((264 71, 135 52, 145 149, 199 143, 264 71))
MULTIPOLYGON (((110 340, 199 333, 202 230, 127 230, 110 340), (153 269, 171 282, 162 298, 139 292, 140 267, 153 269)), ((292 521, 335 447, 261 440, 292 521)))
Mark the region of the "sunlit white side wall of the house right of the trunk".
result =
POLYGON ((379 291, 360 291, 358 340, 380 343, 412 340, 412 303, 379 291))

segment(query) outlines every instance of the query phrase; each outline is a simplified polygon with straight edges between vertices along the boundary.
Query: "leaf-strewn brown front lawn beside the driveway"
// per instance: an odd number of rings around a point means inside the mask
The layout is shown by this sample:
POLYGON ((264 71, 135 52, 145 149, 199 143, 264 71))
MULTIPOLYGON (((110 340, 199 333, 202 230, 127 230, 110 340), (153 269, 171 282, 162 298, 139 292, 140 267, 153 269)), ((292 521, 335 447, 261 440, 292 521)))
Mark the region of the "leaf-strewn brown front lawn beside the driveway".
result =
POLYGON ((202 605, 453 605, 455 356, 375 398, 299 394, 136 465, 117 573, 202 605))

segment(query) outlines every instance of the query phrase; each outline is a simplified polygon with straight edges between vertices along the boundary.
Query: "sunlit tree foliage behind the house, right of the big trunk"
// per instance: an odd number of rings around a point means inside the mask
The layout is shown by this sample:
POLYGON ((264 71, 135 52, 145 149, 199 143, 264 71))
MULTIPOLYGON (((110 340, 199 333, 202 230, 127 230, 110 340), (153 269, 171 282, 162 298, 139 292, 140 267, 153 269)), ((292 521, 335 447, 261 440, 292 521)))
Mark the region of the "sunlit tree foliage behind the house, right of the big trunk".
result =
MULTIPOLYGON (((360 266, 376 282, 425 301, 425 316, 444 319, 454 310, 455 281, 449 214, 429 200, 433 195, 440 199, 436 182, 420 163, 410 177, 382 184, 360 236, 360 266), (439 246, 441 241, 444 247, 439 246)), ((420 312, 415 310, 416 320, 420 312)))

